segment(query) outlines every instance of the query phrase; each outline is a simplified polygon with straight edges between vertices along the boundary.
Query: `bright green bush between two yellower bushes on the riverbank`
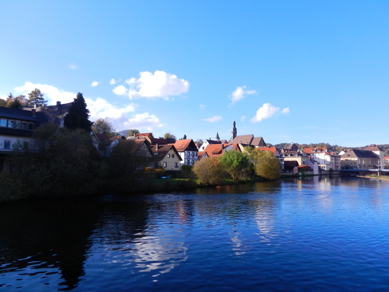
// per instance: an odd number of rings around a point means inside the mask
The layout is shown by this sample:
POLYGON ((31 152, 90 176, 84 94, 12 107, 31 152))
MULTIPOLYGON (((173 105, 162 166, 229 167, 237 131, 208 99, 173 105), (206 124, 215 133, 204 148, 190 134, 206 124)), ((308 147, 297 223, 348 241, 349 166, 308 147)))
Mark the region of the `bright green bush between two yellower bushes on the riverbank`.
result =
POLYGON ((226 167, 233 181, 245 179, 252 172, 252 164, 248 154, 241 151, 224 152, 220 163, 226 167))

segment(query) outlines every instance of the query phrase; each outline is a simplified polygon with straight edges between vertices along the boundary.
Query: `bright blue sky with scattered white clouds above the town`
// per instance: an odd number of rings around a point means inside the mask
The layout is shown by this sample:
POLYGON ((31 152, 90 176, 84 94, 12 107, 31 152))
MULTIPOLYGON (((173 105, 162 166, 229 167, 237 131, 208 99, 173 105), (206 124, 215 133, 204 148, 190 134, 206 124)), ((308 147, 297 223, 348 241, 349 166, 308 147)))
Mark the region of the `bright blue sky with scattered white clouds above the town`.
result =
POLYGON ((388 144, 388 1, 0 1, 0 98, 194 140, 388 144))

